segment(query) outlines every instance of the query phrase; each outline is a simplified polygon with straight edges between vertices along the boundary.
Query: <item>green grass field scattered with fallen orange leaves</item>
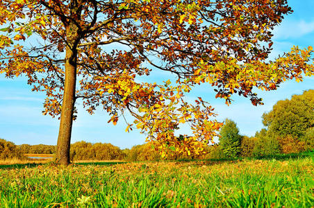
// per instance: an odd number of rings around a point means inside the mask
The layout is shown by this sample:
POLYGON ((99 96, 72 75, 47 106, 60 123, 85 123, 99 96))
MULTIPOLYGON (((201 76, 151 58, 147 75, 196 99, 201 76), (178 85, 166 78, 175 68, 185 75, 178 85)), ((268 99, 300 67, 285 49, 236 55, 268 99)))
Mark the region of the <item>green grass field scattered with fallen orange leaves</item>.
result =
POLYGON ((313 207, 313 156, 0 166, 1 207, 313 207))

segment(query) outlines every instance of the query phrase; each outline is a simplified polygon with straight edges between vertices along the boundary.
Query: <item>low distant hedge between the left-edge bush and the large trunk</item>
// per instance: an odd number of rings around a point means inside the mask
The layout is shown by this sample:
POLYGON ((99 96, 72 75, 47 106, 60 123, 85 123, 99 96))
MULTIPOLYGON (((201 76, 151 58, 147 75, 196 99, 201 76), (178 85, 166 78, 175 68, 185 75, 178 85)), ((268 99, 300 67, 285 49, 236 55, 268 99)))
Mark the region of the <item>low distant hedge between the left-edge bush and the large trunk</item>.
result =
POLYGON ((53 154, 56 153, 56 146, 47 144, 21 144, 18 146, 24 154, 53 154))

